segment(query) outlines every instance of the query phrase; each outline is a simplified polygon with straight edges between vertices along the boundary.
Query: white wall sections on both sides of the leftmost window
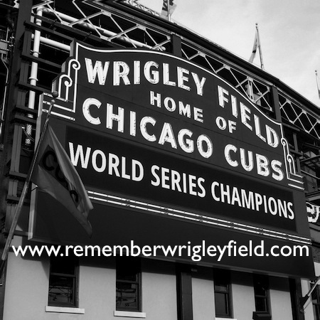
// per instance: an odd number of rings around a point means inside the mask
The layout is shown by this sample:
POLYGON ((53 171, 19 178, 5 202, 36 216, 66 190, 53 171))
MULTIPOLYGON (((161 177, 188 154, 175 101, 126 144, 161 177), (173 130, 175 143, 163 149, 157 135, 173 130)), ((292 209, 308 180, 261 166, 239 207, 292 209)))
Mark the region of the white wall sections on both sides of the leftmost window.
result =
POLYGON ((49 260, 46 258, 28 260, 10 253, 6 273, 4 320, 117 319, 113 316, 114 269, 80 265, 79 309, 84 309, 85 314, 70 314, 46 311, 49 268, 49 260))

